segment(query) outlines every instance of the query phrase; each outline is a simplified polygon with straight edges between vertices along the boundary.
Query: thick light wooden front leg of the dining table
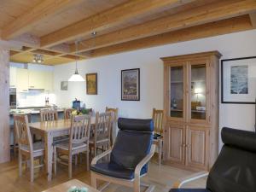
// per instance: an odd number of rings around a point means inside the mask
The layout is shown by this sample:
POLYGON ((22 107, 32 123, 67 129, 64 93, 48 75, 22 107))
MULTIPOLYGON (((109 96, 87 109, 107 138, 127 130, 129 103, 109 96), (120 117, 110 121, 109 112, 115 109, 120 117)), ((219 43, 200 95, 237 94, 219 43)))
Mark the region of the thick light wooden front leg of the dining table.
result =
POLYGON ((53 139, 50 132, 44 133, 44 150, 45 150, 45 168, 47 180, 50 181, 52 178, 52 148, 53 139))

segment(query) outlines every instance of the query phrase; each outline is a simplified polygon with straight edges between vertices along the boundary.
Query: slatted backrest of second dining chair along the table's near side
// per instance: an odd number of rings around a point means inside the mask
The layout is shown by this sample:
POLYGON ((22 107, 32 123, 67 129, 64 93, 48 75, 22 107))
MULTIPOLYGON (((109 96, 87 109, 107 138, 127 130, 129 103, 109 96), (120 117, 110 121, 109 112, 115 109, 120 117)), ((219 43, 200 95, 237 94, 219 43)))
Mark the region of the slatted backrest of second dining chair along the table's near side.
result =
POLYGON ((111 113, 96 113, 96 124, 94 131, 95 142, 101 141, 103 139, 109 139, 110 141, 110 131, 111 131, 111 113))

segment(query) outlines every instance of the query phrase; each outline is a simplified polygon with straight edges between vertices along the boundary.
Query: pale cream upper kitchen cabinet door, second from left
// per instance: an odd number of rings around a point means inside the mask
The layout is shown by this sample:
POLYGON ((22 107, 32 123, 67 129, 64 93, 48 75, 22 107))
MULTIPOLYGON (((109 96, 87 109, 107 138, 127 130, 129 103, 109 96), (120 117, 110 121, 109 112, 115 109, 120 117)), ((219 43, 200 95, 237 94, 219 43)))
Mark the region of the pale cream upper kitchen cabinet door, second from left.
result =
POLYGON ((28 91, 28 70, 16 68, 16 89, 17 92, 28 91))

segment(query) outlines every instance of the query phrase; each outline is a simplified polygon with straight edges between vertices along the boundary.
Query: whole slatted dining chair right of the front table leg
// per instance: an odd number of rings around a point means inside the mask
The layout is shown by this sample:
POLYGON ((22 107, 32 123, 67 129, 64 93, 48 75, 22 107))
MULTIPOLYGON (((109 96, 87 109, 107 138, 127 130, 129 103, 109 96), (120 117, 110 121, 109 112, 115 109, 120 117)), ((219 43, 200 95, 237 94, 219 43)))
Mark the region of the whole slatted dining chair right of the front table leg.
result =
POLYGON ((89 171, 89 141, 90 141, 90 115, 71 116, 71 128, 69 142, 59 143, 54 146, 55 174, 57 171, 56 163, 68 166, 68 176, 72 177, 72 160, 73 155, 86 152, 86 167, 89 171), (61 159, 62 155, 68 156, 68 163, 61 159))

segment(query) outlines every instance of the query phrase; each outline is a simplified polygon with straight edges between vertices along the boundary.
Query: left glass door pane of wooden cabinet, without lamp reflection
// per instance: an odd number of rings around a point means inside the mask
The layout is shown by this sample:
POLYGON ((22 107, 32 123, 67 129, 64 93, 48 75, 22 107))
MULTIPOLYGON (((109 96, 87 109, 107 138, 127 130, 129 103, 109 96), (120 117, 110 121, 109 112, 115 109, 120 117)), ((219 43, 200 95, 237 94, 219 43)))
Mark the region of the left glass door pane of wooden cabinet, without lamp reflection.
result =
POLYGON ((170 116, 183 118, 183 66, 170 67, 170 116))

